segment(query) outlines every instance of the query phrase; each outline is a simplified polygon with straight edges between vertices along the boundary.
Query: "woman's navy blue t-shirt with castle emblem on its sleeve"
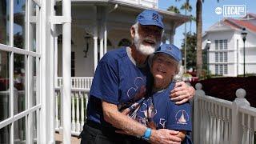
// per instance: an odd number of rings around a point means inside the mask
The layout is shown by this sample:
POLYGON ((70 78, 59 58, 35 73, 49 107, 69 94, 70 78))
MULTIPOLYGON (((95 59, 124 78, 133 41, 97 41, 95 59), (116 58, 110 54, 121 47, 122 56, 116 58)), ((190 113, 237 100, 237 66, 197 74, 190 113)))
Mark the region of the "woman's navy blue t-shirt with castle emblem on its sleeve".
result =
POLYGON ((154 129, 191 131, 191 106, 189 103, 176 105, 171 101, 169 93, 173 88, 174 83, 168 89, 145 98, 134 118, 146 126, 153 126, 154 129))

